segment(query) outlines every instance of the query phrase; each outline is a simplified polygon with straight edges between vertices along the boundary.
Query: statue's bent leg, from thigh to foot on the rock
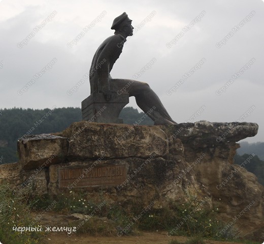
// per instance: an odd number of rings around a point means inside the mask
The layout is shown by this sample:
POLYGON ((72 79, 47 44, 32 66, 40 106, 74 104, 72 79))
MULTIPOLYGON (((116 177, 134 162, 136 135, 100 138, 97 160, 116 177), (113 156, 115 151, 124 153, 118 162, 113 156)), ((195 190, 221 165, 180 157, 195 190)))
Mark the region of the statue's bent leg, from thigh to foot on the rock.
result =
POLYGON ((126 79, 112 79, 111 83, 118 93, 122 91, 129 93, 129 97, 134 96, 138 106, 149 115, 155 125, 177 124, 147 83, 126 79))

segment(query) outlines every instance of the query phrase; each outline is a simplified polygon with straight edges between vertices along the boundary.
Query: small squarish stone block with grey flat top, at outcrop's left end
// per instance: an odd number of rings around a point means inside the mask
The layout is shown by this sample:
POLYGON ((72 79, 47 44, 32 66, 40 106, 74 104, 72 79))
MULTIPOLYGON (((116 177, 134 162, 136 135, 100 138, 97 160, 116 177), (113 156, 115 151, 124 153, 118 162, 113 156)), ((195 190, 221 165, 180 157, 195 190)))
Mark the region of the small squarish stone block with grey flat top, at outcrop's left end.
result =
POLYGON ((20 138, 17 143, 20 164, 24 169, 62 163, 67 149, 67 138, 50 134, 30 135, 20 138))

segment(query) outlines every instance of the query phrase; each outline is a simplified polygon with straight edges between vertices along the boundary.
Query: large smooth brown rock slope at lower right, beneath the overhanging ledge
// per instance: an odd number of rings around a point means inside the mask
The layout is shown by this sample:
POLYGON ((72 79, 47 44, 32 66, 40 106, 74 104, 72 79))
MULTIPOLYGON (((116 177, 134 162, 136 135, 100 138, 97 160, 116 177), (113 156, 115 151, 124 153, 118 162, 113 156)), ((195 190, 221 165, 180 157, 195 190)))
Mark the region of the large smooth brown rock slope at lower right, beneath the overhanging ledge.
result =
POLYGON ((264 187, 243 167, 228 164, 217 155, 210 158, 206 156, 193 167, 196 180, 212 194, 221 219, 238 228, 241 236, 258 239, 264 233, 264 187))

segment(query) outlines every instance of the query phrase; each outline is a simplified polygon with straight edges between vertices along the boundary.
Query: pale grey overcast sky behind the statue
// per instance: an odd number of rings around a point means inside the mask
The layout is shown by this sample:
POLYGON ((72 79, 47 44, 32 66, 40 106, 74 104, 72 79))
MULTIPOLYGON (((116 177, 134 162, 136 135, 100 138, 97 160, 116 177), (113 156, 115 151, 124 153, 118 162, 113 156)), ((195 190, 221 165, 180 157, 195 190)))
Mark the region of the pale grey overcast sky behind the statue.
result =
POLYGON ((113 78, 140 73, 177 123, 255 122, 246 140, 264 141, 261 0, 0 1, 0 108, 80 107, 81 80, 123 12, 135 32, 113 78))

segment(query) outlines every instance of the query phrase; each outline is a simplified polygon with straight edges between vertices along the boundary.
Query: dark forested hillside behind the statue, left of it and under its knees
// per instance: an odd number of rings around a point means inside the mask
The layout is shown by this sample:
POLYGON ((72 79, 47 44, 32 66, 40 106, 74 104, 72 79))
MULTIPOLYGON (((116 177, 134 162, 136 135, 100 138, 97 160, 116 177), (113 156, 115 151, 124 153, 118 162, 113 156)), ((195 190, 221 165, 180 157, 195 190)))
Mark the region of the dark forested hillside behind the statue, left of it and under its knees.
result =
MULTIPOLYGON (((125 107, 119 118, 124 124, 153 125, 143 112, 125 107)), ((18 160, 17 140, 24 135, 60 132, 73 122, 82 120, 80 108, 55 109, 1 109, 0 110, 0 164, 18 160)))

